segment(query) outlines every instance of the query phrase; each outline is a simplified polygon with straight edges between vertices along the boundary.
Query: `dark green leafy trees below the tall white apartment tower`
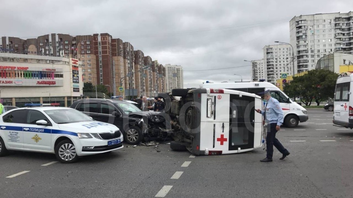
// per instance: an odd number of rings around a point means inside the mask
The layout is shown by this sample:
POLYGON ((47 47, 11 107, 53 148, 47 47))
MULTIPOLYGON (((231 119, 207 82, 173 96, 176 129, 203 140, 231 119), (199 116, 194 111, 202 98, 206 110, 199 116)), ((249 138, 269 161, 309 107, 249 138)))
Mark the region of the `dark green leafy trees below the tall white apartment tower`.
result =
POLYGON ((320 105, 322 100, 333 97, 338 74, 330 70, 315 69, 307 74, 294 77, 290 83, 285 83, 283 91, 290 97, 299 96, 307 106, 315 100, 320 105))

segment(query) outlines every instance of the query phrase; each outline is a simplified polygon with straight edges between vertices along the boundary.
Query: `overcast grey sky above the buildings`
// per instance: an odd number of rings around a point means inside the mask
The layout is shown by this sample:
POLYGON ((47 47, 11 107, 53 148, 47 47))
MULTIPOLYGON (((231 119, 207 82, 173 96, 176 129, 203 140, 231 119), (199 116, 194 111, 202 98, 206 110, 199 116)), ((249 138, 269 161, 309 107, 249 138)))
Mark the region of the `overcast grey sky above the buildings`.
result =
POLYGON ((250 81, 251 63, 244 60, 262 59, 262 48, 274 41, 289 42, 294 16, 353 11, 348 0, 0 2, 1 36, 109 33, 160 64, 183 66, 186 87, 199 87, 206 80, 240 80, 234 74, 250 81))

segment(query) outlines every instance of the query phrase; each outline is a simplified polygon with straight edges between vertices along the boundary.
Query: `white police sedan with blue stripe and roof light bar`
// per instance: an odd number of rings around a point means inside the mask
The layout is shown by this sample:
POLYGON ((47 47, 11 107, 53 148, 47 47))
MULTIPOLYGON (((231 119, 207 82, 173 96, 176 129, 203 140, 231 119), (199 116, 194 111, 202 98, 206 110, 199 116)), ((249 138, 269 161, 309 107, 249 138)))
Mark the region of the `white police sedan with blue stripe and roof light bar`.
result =
POLYGON ((0 157, 8 150, 53 153, 62 163, 123 148, 113 124, 59 104, 26 104, 0 116, 0 157))

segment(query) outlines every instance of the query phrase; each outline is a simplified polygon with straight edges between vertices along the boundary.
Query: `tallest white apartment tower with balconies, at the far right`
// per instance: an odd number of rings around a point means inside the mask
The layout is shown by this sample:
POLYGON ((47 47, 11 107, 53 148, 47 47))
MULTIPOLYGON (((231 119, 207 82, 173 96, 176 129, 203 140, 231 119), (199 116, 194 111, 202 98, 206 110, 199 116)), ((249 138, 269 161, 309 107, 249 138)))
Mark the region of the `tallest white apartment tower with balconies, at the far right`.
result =
POLYGON ((295 73, 315 69, 333 52, 353 54, 353 12, 300 15, 289 21, 295 73))

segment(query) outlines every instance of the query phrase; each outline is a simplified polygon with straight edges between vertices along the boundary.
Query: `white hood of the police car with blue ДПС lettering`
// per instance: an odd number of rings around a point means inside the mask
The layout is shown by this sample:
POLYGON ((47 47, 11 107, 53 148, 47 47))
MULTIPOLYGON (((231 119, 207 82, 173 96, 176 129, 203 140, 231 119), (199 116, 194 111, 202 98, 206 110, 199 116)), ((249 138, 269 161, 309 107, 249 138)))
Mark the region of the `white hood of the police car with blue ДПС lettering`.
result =
POLYGON ((113 124, 98 121, 58 124, 58 126, 61 130, 77 133, 104 133, 110 132, 110 130, 119 130, 119 128, 113 124))

